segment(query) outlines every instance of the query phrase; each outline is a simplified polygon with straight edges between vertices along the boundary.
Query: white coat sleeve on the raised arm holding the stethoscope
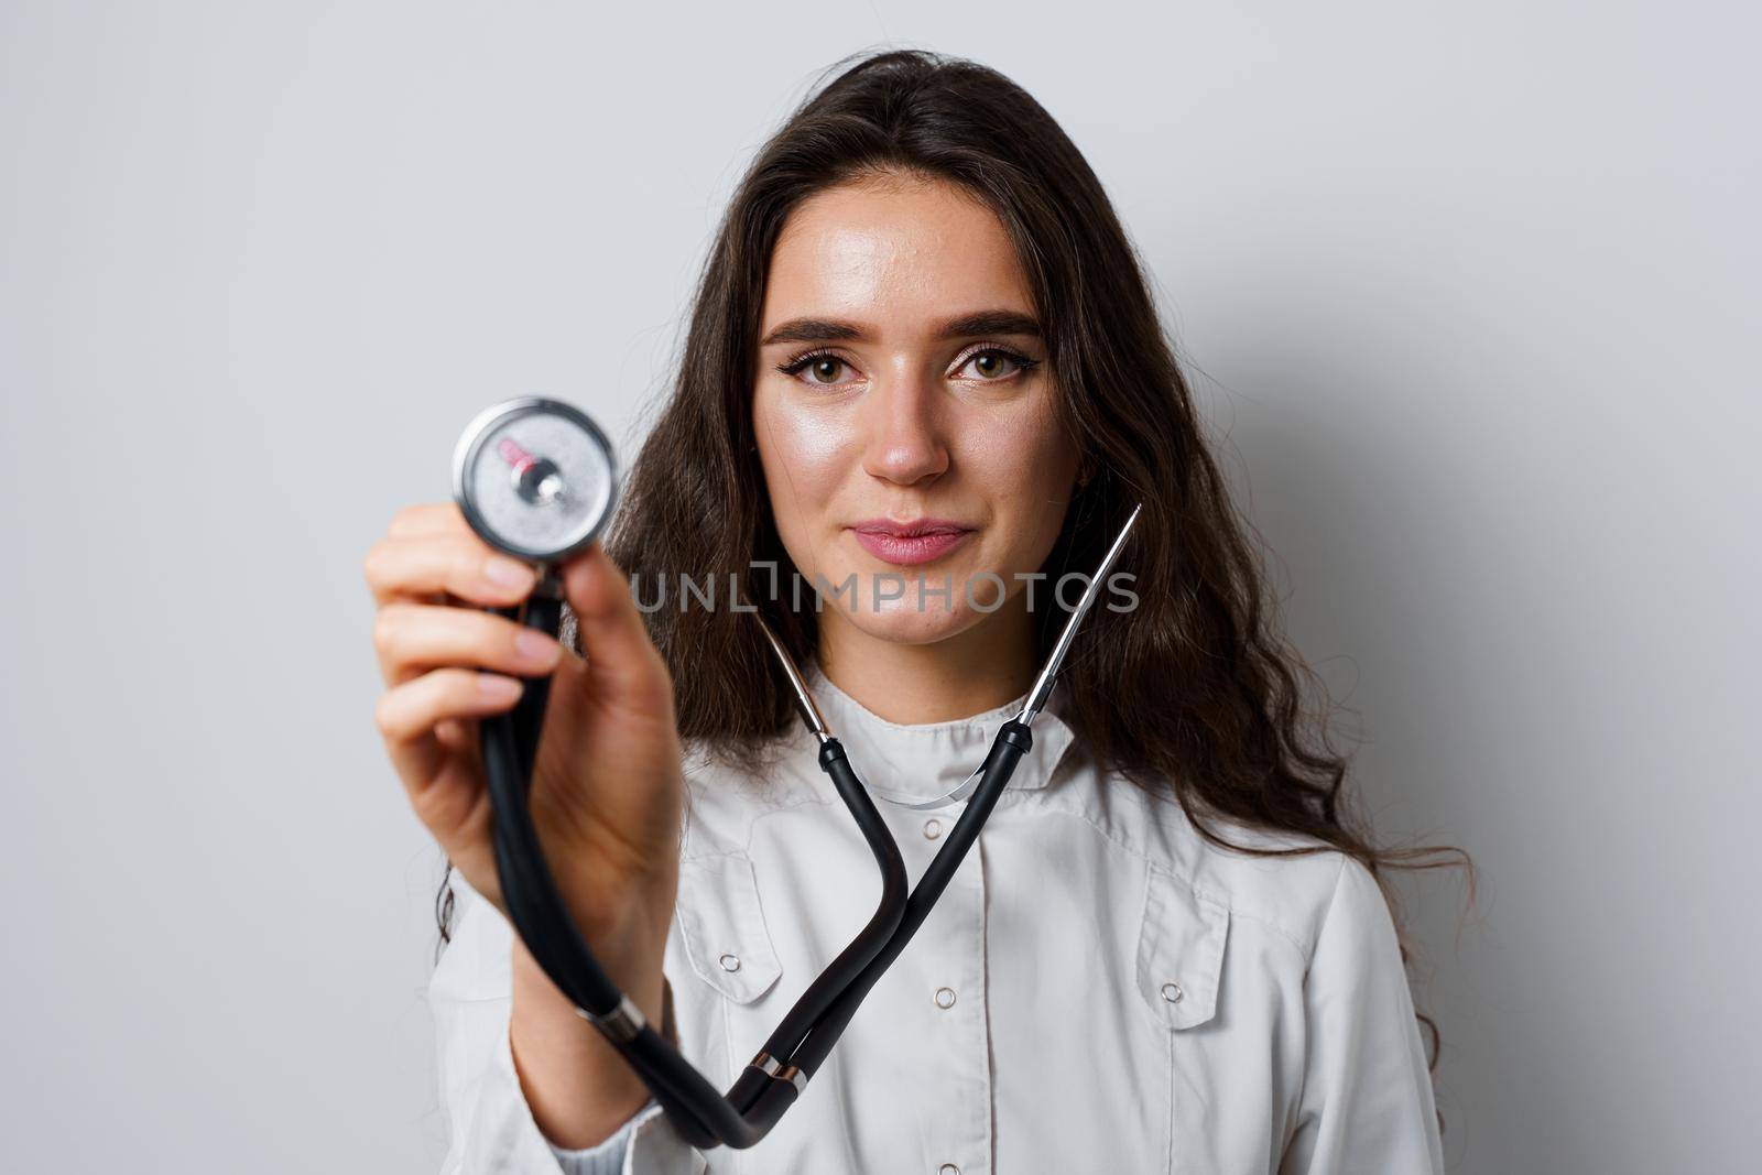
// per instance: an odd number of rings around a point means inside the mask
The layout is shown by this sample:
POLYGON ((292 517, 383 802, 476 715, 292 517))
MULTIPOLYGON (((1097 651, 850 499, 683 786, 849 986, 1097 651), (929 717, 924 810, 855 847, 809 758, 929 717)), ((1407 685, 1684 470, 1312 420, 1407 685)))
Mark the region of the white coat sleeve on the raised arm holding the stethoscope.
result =
POLYGON ((654 1103, 599 1147, 552 1145, 532 1119, 507 1036, 513 1013, 513 928, 455 876, 453 939, 428 981, 435 1059, 449 1145, 440 1175, 701 1175, 654 1103))

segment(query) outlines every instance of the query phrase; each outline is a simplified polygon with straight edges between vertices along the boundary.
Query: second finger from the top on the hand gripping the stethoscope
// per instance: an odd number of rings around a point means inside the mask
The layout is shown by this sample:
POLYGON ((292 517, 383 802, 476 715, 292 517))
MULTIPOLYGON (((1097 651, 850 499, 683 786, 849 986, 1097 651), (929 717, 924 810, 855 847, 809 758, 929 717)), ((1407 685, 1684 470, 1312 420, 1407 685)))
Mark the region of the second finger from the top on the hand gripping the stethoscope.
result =
POLYGON ((476 608, 393 601, 374 617, 374 648, 388 685, 444 666, 509 676, 541 676, 557 668, 562 645, 546 632, 476 608))

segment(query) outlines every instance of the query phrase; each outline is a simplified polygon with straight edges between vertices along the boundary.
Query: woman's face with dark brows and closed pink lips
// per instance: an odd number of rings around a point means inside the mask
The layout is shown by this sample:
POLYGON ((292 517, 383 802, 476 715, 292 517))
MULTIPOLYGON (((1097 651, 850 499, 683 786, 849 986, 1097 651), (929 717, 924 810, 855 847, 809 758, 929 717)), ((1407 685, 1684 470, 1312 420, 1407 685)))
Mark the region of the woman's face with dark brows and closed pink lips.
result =
POLYGON ((930 643, 1020 608, 1078 458, 997 217, 948 183, 825 190, 784 224, 759 322, 759 458, 823 632, 930 643))

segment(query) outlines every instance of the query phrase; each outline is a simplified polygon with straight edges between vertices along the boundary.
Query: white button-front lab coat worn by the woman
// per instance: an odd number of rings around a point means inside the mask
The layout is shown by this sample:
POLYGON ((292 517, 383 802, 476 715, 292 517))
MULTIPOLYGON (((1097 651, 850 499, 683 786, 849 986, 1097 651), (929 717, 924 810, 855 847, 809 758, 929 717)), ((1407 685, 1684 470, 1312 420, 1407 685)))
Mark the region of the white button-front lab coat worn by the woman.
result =
MULTIPOLYGON (((1018 710, 899 726, 807 676, 858 775, 895 793, 950 791, 1018 710)), ((1339 853, 1207 844, 1173 802, 1098 772, 1059 703, 911 946, 749 1150, 698 1154, 654 1103, 604 1147, 552 1147, 507 1043, 507 921, 455 877, 458 927, 430 985, 444 1171, 1443 1171, 1369 872, 1339 853)), ((877 807, 916 883, 962 805, 877 807)), ((877 897, 805 729, 763 779, 692 757, 664 971, 682 1048, 712 1083, 733 1083, 877 897)))

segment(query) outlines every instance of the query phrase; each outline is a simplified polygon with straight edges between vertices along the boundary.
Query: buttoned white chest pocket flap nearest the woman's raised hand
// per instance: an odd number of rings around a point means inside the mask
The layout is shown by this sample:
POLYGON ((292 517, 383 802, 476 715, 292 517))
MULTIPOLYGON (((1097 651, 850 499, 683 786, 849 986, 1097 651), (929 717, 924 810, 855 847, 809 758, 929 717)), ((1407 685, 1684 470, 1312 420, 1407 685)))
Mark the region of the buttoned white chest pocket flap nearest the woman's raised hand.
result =
POLYGON ((692 972, 737 1004, 751 1004, 782 974, 758 879, 745 853, 680 861, 680 941, 692 972))

